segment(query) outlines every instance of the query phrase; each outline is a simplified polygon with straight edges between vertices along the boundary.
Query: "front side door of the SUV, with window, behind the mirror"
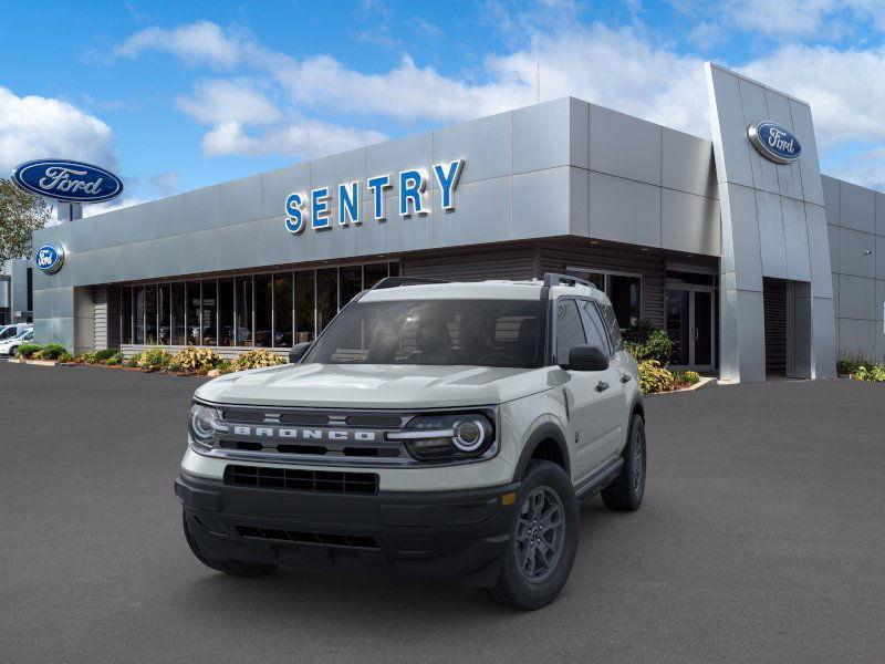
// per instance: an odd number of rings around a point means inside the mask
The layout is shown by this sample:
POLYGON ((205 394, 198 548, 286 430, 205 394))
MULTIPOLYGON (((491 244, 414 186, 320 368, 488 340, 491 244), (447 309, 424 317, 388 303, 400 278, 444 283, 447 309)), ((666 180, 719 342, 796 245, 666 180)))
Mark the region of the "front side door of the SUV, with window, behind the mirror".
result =
MULTIPOLYGON (((577 300, 560 298, 555 304, 555 352, 556 363, 568 364, 569 353, 575 345, 589 343, 587 330, 577 308, 577 300)), ((598 333, 593 332, 592 343, 601 345, 598 333)), ((608 352, 607 345, 601 345, 608 352)), ((614 406, 610 394, 617 384, 617 372, 560 370, 563 397, 568 405, 570 440, 574 445, 574 478, 581 480, 595 470, 608 456, 614 406), (608 394, 607 394, 608 393, 608 394)))

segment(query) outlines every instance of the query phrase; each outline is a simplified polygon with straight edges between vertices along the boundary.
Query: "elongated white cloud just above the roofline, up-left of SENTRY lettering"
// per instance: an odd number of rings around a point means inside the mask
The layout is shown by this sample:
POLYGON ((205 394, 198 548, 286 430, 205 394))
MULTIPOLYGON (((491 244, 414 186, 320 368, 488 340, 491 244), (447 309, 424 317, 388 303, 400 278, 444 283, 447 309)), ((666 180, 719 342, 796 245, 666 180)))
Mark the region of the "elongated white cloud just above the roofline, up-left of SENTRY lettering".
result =
POLYGON ((375 131, 343 127, 311 120, 278 126, 250 136, 242 124, 233 121, 216 125, 202 138, 207 155, 287 155, 311 158, 345 152, 354 147, 381 143, 386 136, 375 131))

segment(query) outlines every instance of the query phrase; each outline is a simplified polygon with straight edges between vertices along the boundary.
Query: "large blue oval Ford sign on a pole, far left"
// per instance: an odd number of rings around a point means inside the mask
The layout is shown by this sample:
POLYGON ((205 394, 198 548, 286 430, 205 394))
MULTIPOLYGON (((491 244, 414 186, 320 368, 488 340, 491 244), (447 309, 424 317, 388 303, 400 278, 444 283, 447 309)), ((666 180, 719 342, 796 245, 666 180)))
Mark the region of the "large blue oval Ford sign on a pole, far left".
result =
POLYGON ((123 193, 116 175, 83 162, 28 162, 15 168, 12 179, 25 191, 66 203, 102 203, 123 193))

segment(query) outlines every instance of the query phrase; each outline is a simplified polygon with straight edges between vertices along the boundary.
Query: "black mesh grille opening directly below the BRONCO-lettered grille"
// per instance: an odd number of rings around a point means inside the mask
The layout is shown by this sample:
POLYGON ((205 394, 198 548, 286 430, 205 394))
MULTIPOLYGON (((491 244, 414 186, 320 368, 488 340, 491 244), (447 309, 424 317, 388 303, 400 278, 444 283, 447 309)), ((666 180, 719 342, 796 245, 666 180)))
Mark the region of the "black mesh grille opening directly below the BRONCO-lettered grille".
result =
POLYGON ((261 466, 228 466, 225 484, 237 487, 319 491, 325 494, 377 494, 376 473, 339 473, 261 466))

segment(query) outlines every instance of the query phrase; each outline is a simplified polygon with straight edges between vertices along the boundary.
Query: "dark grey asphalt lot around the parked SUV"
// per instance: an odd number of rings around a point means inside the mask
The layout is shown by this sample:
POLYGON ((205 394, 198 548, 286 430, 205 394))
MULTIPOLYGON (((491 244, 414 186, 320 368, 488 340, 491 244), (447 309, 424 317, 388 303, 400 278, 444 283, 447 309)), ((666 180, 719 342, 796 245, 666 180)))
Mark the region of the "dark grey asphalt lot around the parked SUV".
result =
POLYGON ((454 583, 204 568, 173 478, 198 378, 0 363, 0 662, 881 662, 885 388, 648 398, 643 508, 581 511, 534 613, 454 583))

